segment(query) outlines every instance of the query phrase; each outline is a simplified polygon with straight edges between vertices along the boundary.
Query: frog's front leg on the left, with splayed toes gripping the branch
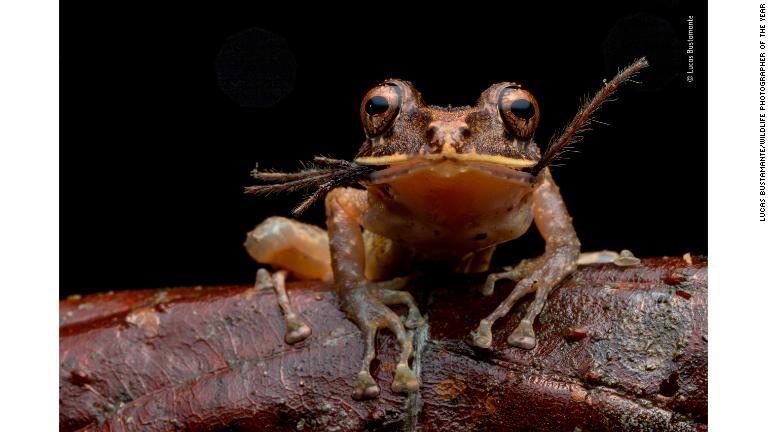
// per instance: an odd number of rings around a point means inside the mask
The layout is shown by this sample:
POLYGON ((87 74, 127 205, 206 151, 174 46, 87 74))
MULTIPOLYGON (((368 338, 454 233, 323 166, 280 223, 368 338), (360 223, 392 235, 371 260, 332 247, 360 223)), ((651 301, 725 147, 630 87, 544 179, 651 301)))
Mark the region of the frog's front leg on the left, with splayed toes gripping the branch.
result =
POLYGON ((406 304, 409 325, 418 325, 420 314, 410 293, 398 291, 405 279, 391 282, 369 282, 365 277, 365 245, 361 221, 368 210, 365 191, 339 188, 325 200, 331 267, 341 305, 347 316, 357 324, 365 340, 363 364, 354 384, 354 399, 372 399, 379 395, 379 386, 370 373, 376 355, 376 332, 389 328, 400 344, 400 358, 392 381, 392 391, 417 391, 419 382, 408 365, 413 351, 411 338, 400 317, 387 305, 406 304), (418 316, 417 316, 418 315, 418 316))

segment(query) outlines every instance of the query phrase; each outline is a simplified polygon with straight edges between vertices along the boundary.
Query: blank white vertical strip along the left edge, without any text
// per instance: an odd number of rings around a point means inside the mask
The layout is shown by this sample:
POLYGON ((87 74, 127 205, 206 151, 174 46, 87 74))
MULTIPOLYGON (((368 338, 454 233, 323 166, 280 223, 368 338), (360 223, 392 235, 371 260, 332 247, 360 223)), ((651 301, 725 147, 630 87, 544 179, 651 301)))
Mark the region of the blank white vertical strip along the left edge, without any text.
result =
POLYGON ((0 428, 58 430, 59 5, 0 2, 0 428))

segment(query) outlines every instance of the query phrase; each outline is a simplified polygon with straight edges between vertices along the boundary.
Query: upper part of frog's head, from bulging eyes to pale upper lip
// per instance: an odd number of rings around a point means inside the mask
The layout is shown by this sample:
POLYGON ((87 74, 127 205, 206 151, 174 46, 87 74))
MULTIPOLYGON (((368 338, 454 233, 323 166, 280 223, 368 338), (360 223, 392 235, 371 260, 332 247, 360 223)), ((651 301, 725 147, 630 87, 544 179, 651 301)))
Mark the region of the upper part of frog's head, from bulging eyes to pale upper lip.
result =
POLYGON ((533 141, 539 106, 515 83, 491 86, 473 107, 441 108, 426 105, 411 83, 391 79, 365 95, 360 117, 361 165, 454 161, 521 170, 541 157, 533 141))

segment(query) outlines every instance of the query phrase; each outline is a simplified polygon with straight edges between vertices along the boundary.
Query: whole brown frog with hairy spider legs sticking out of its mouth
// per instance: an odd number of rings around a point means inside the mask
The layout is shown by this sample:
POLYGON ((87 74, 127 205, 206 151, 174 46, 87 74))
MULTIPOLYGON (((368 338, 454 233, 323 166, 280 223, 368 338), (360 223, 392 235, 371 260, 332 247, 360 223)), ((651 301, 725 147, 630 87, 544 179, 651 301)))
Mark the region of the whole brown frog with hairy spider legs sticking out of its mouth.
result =
POLYGON ((388 79, 363 97, 359 113, 365 140, 352 162, 319 158, 331 167, 257 172, 268 184, 249 192, 316 185, 309 201, 324 195, 326 229, 273 216, 246 237, 250 256, 272 268, 258 270, 256 285, 277 293, 285 342, 294 344, 312 333, 291 306, 287 275, 324 280, 335 287, 341 309, 362 333, 364 354, 351 397, 368 400, 381 393, 370 370, 380 329, 390 330, 400 349, 391 390, 418 391, 408 330, 422 326, 424 317, 404 288, 419 266, 440 262, 457 273, 487 273, 479 290, 485 296, 501 280, 515 283, 468 335, 467 342, 477 349, 490 349, 494 323, 533 294, 506 341, 513 349, 533 349, 534 321, 552 290, 576 269, 581 249, 551 162, 578 140, 619 85, 647 65, 639 59, 604 80, 544 152, 534 140, 539 104, 520 84, 494 84, 473 106, 439 107, 427 105, 411 82, 388 79), (496 247, 531 226, 544 239, 544 253, 489 272, 496 247), (395 305, 404 305, 407 315, 395 313, 395 305))

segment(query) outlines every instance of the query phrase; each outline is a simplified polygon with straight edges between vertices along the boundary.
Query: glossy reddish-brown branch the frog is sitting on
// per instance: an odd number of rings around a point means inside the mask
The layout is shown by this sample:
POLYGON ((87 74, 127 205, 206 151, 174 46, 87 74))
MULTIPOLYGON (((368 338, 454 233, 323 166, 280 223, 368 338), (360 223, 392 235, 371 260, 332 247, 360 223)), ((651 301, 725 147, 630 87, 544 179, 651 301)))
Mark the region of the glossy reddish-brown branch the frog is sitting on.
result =
MULTIPOLYGON (((706 430, 705 263, 581 268, 552 293, 532 351, 504 342, 525 304, 494 328, 493 351, 463 342, 509 289, 486 298, 480 282, 414 289, 430 324, 420 400, 386 385, 349 397, 360 333, 319 283, 289 286, 314 330, 295 346, 273 294, 247 286, 62 301, 60 430, 706 430)), ((382 384, 396 346, 379 337, 382 384)))

